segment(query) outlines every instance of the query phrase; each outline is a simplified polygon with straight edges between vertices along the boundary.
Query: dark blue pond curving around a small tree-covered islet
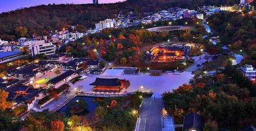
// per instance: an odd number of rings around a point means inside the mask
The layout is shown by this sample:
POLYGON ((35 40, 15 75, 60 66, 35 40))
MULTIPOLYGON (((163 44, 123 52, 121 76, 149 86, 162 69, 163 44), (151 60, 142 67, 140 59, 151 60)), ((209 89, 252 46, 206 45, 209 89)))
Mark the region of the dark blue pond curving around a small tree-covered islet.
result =
MULTIPOLYGON (((87 107, 87 110, 91 113, 91 112, 94 112, 95 108, 96 108, 96 105, 98 104, 99 101, 101 101, 102 98, 95 98, 95 97, 75 97, 72 101, 70 101, 69 103, 71 102, 75 102, 75 101, 79 101, 79 100, 84 100, 88 103, 88 107, 87 107)), ((68 103, 68 104, 69 104, 68 103)), ((68 107, 68 104, 65 105, 64 107, 62 107, 58 113, 65 113, 66 116, 70 116, 70 107, 68 107)))

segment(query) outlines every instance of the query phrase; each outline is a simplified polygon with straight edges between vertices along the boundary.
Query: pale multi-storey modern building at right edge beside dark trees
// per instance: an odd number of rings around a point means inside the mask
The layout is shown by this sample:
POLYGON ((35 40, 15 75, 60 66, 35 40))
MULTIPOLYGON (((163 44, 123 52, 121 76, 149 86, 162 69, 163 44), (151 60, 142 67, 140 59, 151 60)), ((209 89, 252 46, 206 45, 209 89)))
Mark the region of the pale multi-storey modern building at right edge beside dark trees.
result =
POLYGON ((253 83, 255 83, 255 76, 256 76, 256 70, 252 65, 245 64, 244 67, 241 66, 241 73, 243 73, 244 76, 251 79, 253 83))

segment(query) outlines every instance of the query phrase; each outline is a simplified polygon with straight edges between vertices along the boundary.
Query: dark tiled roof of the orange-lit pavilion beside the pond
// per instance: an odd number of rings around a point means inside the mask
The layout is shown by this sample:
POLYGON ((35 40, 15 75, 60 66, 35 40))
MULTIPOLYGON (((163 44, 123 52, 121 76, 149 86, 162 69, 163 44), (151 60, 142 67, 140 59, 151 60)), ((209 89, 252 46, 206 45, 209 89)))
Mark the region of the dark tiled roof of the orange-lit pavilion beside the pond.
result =
POLYGON ((120 82, 120 79, 118 78, 111 78, 111 79, 96 78, 96 80, 93 83, 90 83, 89 85, 120 86, 121 82, 120 82))

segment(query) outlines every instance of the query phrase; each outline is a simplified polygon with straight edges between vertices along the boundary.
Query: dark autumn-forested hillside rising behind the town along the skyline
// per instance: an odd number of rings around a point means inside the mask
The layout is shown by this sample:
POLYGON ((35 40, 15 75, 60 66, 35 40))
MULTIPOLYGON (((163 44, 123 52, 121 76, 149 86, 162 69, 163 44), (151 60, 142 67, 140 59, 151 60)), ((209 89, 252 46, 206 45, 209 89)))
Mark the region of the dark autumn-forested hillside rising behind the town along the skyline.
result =
POLYGON ((127 16, 130 11, 138 18, 144 12, 155 13, 170 7, 198 9, 204 5, 234 5, 239 1, 164 1, 128 0, 115 4, 60 4, 40 5, 0 14, 0 38, 4 40, 31 37, 32 34, 49 35, 51 30, 62 30, 69 25, 94 28, 95 23, 106 18, 116 18, 119 13, 127 16))

